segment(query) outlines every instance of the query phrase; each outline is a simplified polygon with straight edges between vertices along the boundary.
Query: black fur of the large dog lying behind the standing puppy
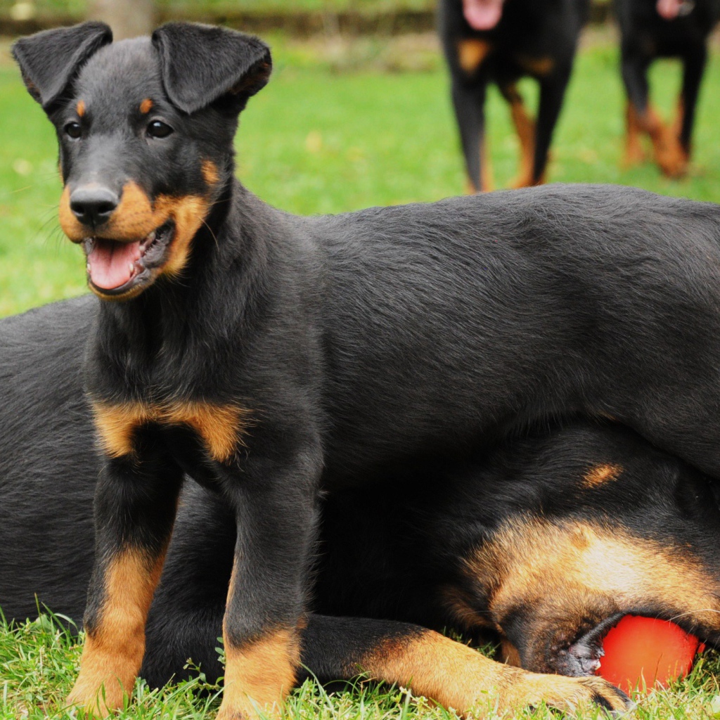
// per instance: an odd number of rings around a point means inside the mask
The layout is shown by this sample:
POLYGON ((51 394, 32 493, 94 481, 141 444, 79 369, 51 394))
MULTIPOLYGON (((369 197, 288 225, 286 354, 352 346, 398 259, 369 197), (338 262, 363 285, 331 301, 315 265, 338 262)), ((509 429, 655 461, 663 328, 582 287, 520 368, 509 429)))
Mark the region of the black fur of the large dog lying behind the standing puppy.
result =
MULTIPOLYGON (((78 347, 96 305, 84 298, 0 322, 0 607, 11 619, 35 616, 36 593, 71 618, 84 610, 99 462, 78 347)), ((658 603, 653 587, 644 588, 641 603, 618 595, 608 606, 589 586, 579 600, 559 585, 531 603, 518 595, 510 615, 498 611, 496 578, 469 574, 467 560, 504 523, 528 516, 557 526, 611 523, 636 539, 686 548, 688 562, 701 562, 708 588, 720 583, 714 482, 626 428, 573 422, 452 467, 398 470, 325 499, 303 664, 321 680, 352 678, 368 652, 424 626, 477 639, 499 635, 528 670, 587 675, 582 649, 597 657, 608 619, 624 613, 680 618, 689 631, 720 640, 720 621, 707 624, 703 608, 683 604, 679 592, 677 605, 658 603), (623 467, 621 477, 588 489, 584 474, 603 463, 623 467), (454 611, 453 598, 466 600, 482 622, 454 611), (558 598, 566 599, 548 623, 558 598)), ((150 684, 183 677, 189 658, 211 681, 222 675, 215 647, 234 546, 225 503, 188 481, 148 620, 143 675, 150 684)))

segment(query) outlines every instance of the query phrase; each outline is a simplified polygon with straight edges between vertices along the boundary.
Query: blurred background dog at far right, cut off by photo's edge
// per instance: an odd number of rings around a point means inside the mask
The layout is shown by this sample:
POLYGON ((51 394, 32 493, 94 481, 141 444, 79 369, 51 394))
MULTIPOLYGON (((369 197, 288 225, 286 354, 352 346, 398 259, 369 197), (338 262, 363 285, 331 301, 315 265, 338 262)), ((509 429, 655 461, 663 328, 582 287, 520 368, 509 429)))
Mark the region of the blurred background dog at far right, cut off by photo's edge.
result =
POLYGON ((642 160, 641 133, 667 176, 688 171, 698 93, 708 56, 708 35, 720 19, 718 0, 615 0, 621 33, 626 111, 626 163, 642 160), (680 58, 683 84, 678 118, 666 125, 649 99, 647 70, 657 58, 680 58))

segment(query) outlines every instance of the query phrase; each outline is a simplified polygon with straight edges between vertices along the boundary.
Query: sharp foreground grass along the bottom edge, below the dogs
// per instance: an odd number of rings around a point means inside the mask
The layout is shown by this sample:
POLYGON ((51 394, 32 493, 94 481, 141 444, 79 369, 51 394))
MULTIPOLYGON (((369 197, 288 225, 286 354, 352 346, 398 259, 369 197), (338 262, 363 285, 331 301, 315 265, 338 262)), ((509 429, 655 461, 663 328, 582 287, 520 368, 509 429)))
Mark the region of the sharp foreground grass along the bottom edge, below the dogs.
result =
MULTIPOLYGON (((0 624, 0 720, 70 720, 63 708, 75 679, 78 640, 48 615, 18 626, 0 624)), ((657 690, 637 698, 629 720, 698 720, 720 718, 716 654, 706 653, 688 678, 670 690, 657 690)), ((161 690, 138 680, 132 702, 117 714, 120 720, 210 720, 220 705, 220 688, 200 677, 161 690)), ((517 720, 553 720, 560 716, 548 708, 526 709, 511 716, 517 720)), ((582 720, 607 720, 600 708, 579 715, 582 720)), ((488 720, 507 715, 490 714, 488 720)), ((346 690, 328 694, 306 682, 292 693, 284 720, 456 720, 454 713, 433 707, 424 698, 397 687, 378 687, 357 681, 346 690)))

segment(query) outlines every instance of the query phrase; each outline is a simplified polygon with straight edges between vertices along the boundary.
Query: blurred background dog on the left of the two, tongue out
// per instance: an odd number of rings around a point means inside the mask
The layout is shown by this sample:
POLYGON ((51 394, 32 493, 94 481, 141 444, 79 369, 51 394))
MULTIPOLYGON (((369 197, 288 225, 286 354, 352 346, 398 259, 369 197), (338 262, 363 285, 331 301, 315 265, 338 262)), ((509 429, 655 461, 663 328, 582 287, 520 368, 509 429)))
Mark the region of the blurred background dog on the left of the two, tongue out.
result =
POLYGON ((588 0, 442 0, 438 29, 450 68, 452 99, 470 188, 492 189, 485 148, 485 94, 494 82, 510 105, 521 147, 513 184, 544 181, 552 133, 570 80, 588 0), (537 122, 517 82, 540 86, 537 122))

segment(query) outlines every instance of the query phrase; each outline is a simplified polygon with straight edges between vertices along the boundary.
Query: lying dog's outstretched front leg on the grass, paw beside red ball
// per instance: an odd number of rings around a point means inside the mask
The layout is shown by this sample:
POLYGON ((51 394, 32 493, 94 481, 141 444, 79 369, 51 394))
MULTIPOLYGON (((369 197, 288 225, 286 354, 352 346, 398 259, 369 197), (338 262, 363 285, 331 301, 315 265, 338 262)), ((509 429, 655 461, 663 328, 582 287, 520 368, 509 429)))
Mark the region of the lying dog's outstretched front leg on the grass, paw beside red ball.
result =
POLYGON ((537 675, 407 623, 310 616, 302 662, 319 680, 370 678, 412 688, 461 716, 546 703, 572 711, 596 703, 624 710, 621 690, 600 678, 537 675))

